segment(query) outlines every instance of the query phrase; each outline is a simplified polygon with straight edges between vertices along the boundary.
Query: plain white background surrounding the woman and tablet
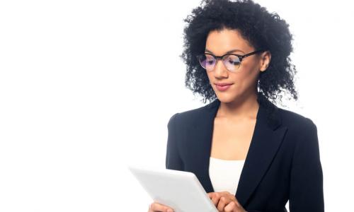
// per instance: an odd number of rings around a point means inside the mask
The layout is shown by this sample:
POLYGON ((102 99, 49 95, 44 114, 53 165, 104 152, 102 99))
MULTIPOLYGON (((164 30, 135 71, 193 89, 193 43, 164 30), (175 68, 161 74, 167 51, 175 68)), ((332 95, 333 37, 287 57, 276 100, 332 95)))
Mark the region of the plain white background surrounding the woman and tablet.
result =
MULTIPOLYGON (((348 210, 353 7, 256 2, 290 24, 287 109, 318 128, 326 211, 348 210)), ((0 211, 147 211, 127 165, 164 167, 169 118, 203 105, 179 58, 199 3, 0 1, 0 211)))

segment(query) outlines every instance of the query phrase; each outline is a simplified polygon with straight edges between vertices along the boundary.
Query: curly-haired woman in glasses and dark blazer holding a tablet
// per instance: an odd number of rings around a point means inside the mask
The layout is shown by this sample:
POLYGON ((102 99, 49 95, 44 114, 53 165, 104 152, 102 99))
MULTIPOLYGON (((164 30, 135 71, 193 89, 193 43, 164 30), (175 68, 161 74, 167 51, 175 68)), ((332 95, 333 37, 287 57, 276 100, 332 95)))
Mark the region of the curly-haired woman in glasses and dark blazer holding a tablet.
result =
POLYGON ((171 117, 166 168, 195 173, 218 211, 324 211, 316 125, 273 104, 281 91, 297 100, 287 23, 253 1, 203 3, 181 57, 210 103, 171 117))

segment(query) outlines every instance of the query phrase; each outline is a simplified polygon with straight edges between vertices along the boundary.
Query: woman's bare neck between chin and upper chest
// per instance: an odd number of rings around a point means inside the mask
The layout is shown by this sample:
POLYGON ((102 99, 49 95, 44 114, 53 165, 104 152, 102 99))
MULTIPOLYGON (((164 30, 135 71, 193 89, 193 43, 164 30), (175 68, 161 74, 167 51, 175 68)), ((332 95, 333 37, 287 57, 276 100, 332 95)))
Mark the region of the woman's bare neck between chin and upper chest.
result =
POLYGON ((256 119, 259 104, 257 93, 240 96, 232 102, 220 102, 217 117, 227 119, 256 119))

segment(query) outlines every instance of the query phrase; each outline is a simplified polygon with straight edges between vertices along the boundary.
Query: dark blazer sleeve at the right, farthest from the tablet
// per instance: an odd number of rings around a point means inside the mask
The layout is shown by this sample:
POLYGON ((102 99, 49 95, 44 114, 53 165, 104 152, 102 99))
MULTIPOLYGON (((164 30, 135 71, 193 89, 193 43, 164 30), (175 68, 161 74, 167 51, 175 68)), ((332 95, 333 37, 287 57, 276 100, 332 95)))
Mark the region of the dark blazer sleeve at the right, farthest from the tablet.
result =
POLYGON ((295 144, 290 172, 290 212, 324 211, 323 173, 317 127, 309 125, 295 144))

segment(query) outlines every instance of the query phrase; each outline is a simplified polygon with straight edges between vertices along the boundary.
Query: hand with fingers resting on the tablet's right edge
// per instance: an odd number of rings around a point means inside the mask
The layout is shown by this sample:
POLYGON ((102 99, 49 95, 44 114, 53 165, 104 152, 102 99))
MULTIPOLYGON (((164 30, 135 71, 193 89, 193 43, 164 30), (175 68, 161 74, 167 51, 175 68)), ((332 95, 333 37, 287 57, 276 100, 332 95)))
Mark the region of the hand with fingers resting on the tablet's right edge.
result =
POLYGON ((210 192, 207 195, 219 212, 246 212, 234 194, 229 192, 210 192))

